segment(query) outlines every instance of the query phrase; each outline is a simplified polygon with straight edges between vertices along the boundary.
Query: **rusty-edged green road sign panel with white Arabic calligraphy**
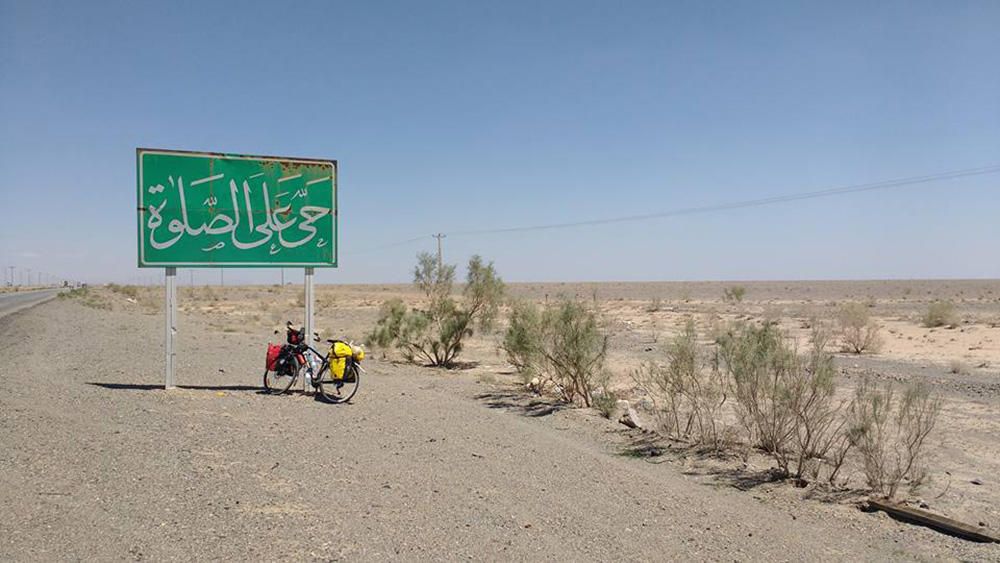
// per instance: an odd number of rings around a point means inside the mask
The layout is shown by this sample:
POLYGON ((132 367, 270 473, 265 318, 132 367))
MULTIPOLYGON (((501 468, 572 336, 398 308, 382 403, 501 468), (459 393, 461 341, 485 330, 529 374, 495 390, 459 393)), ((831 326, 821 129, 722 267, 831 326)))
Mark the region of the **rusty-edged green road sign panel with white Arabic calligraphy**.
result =
POLYGON ((337 266, 337 162, 136 149, 139 267, 337 266))

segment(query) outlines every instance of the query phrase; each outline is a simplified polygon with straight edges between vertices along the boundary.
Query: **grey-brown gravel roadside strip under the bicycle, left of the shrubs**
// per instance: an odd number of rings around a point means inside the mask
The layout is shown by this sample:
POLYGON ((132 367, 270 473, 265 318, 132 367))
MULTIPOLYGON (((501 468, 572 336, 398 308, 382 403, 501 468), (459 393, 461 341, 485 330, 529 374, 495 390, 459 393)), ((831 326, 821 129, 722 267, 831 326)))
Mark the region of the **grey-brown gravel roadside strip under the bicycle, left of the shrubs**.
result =
POLYGON ((268 335, 52 301, 0 318, 0 559, 1000 560, 618 455, 636 439, 462 373, 370 362, 353 404, 258 392, 268 335))

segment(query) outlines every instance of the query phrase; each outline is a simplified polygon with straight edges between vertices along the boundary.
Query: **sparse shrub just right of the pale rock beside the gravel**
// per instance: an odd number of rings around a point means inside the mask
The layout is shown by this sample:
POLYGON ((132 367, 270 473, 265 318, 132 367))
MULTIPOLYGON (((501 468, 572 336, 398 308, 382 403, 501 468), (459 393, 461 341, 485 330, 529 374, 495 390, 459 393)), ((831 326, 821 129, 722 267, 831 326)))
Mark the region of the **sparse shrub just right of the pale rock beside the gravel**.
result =
POLYGON ((715 362, 707 362, 698 346, 694 321, 667 345, 666 363, 648 362, 632 373, 632 380, 653 402, 658 422, 667 435, 719 448, 726 437, 719 411, 727 385, 715 362))

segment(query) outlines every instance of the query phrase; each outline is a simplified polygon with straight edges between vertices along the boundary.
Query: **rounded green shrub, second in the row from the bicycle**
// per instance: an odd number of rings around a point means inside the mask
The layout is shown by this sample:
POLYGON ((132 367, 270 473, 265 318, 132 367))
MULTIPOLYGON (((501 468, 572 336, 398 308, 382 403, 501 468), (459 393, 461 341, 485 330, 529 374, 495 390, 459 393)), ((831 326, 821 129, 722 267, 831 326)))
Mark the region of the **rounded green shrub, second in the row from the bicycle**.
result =
POLYGON ((581 301, 561 299, 539 310, 515 304, 501 348, 525 379, 552 383, 568 403, 594 405, 594 391, 606 384, 608 337, 597 313, 581 301))

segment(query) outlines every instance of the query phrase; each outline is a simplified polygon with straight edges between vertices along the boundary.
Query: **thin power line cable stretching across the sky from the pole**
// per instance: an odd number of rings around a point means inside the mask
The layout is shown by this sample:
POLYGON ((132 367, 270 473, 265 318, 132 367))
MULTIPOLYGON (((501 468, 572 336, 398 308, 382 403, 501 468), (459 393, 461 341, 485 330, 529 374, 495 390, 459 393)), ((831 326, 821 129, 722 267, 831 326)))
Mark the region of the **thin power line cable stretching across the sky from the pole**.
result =
MULTIPOLYGON (((445 233, 447 236, 451 237, 462 237, 462 236, 474 236, 474 235, 487 235, 487 234, 501 234, 501 233, 516 233, 516 232, 527 232, 527 231, 542 231, 542 230, 552 230, 552 229, 567 229, 573 227, 585 227, 585 226, 595 226, 595 225, 607 225, 612 223, 625 223, 630 221, 648 221, 651 219, 661 219, 666 217, 678 217, 682 215, 694 215, 700 213, 711 213, 714 211, 726 211, 731 209, 743 209, 747 207, 760 207, 764 205, 773 205, 776 203, 785 203, 790 201, 801 201, 807 199, 816 199, 821 197, 831 197, 837 195, 860 193, 860 192, 871 192, 876 190, 885 190, 890 188, 898 188, 903 186, 910 186, 916 184, 926 184, 929 182, 937 182, 941 180, 954 180, 958 178, 965 178, 970 176, 982 176, 985 174, 996 174, 1000 172, 1000 164, 994 164, 991 166, 982 166, 979 168, 966 168, 962 170, 951 170, 948 172, 939 172, 936 174, 927 174, 923 176, 909 176, 906 178, 897 178, 893 180, 883 180, 880 182, 870 182, 865 184, 853 184, 849 186, 840 186, 836 188, 826 188, 822 190, 815 190, 810 192, 803 192, 797 194, 785 194, 779 196, 771 196, 760 199, 749 199, 742 201, 734 201, 728 203, 720 203, 715 205, 705 205, 698 207, 686 207, 680 209, 672 209, 669 211, 661 211, 658 213, 644 213, 638 215, 625 215, 621 217, 610 217, 602 219, 589 219, 583 221, 571 221, 565 223, 549 223, 542 225, 527 225, 527 226, 517 226, 517 227, 502 227, 493 229, 472 229, 465 231, 451 231, 445 233)), ((394 246, 402 246, 404 244, 410 244, 417 241, 426 240, 429 238, 428 235, 421 237, 414 237, 404 241, 398 241, 390 243, 384 246, 376 247, 373 250, 391 248, 394 246)))

